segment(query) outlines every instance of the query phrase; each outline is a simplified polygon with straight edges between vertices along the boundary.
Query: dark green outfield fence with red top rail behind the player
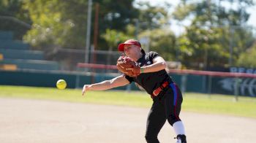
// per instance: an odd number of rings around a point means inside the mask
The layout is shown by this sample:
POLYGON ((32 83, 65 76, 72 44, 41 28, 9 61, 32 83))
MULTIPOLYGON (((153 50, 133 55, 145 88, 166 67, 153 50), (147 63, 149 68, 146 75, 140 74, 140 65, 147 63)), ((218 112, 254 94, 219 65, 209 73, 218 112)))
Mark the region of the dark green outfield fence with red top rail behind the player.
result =
MULTIPOLYGON (((67 88, 83 88, 84 84, 101 82, 117 77, 115 65, 78 63, 77 71, 21 70, 6 71, 0 69, 0 85, 26 85, 37 87, 56 87, 56 81, 64 79, 67 88), (87 71, 85 71, 87 70, 87 71), (113 71, 111 73, 106 70, 113 71)), ((256 97, 256 74, 228 73, 215 71, 195 71, 169 69, 170 77, 180 86, 183 93, 208 93, 256 97)), ((134 83, 116 90, 140 90, 134 83)))

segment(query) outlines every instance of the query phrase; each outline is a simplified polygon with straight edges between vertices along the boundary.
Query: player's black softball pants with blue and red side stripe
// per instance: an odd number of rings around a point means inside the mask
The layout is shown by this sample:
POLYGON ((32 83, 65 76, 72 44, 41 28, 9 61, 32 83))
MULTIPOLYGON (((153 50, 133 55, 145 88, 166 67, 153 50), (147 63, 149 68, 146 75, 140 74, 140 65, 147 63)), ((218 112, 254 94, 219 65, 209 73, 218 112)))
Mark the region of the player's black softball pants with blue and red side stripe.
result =
POLYGON ((164 93, 153 98, 153 104, 148 114, 146 124, 146 141, 157 143, 157 135, 167 120, 170 125, 181 120, 178 115, 181 112, 182 103, 181 90, 175 83, 170 83, 164 93))

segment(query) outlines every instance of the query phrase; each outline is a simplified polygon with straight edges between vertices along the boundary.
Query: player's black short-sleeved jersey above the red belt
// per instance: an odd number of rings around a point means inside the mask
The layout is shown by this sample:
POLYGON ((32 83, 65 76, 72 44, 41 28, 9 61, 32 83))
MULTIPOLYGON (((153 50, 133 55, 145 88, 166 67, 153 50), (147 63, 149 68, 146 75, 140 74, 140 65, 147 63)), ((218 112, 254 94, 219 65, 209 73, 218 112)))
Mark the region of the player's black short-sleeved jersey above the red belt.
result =
MULTIPOLYGON (((153 59, 157 56, 159 56, 158 53, 151 51, 143 54, 143 56, 138 59, 137 62, 139 63, 140 67, 148 66, 153 63, 153 59)), ((129 80, 129 82, 138 83, 138 85, 143 87, 148 94, 153 93, 153 91, 162 85, 163 82, 171 81, 165 69, 162 69, 161 71, 142 73, 138 77, 129 77, 126 75, 125 78, 129 80)))

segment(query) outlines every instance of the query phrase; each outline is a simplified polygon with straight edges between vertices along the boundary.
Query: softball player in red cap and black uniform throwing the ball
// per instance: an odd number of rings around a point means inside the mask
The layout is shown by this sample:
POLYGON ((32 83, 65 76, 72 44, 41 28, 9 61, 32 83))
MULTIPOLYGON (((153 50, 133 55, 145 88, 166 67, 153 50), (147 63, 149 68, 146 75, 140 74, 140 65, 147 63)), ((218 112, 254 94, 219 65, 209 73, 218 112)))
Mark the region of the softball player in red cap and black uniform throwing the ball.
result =
POLYGON ((118 45, 118 50, 138 62, 140 74, 137 77, 122 74, 112 80, 84 85, 82 95, 87 90, 108 90, 136 82, 153 99, 146 123, 146 141, 159 142, 157 136, 167 120, 177 135, 177 143, 187 143, 184 124, 179 117, 183 100, 181 90, 165 71, 165 60, 156 52, 145 53, 140 42, 135 39, 129 39, 118 45))

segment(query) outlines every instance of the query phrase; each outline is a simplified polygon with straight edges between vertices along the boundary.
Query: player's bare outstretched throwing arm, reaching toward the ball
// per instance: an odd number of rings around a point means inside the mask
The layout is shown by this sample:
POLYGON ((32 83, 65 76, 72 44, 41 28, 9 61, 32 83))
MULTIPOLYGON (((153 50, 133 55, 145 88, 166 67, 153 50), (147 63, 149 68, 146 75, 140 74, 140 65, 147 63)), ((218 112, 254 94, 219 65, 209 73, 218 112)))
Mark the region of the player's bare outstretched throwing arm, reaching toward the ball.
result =
POLYGON ((103 82, 94 83, 91 85, 84 85, 82 90, 82 95, 88 90, 108 90, 111 88, 117 88, 119 86, 128 85, 129 80, 127 80, 124 75, 113 78, 112 80, 105 80, 103 82))

